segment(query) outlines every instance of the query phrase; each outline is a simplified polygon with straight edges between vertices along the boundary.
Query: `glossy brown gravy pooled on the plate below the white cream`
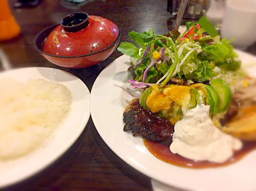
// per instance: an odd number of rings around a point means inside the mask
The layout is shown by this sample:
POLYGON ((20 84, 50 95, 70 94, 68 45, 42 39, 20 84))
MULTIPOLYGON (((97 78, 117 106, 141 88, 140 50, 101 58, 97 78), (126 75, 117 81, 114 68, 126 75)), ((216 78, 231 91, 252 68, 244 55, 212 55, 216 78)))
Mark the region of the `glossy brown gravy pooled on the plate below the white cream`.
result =
POLYGON ((169 146, 161 145, 160 143, 152 142, 143 139, 143 142, 149 152, 161 161, 170 163, 172 165, 187 167, 187 168, 208 168, 208 167, 220 167, 232 164, 242 159, 246 154, 256 149, 256 142, 243 142, 243 148, 240 151, 234 153, 234 156, 224 163, 214 163, 210 161, 196 161, 184 158, 178 154, 173 154, 169 146))

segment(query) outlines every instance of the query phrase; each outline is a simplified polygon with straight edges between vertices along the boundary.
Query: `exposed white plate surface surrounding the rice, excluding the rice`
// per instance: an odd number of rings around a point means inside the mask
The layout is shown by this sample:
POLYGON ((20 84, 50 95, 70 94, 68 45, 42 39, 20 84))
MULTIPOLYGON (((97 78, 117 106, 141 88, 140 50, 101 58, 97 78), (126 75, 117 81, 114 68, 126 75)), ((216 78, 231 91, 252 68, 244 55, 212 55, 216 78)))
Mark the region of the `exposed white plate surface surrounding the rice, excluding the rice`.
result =
POLYGON ((90 117, 90 92, 74 75, 53 68, 22 68, 0 73, 1 79, 45 79, 61 83, 73 96, 67 118, 47 138, 40 148, 21 158, 0 161, 0 188, 21 181, 44 169, 64 154, 79 138, 90 117))

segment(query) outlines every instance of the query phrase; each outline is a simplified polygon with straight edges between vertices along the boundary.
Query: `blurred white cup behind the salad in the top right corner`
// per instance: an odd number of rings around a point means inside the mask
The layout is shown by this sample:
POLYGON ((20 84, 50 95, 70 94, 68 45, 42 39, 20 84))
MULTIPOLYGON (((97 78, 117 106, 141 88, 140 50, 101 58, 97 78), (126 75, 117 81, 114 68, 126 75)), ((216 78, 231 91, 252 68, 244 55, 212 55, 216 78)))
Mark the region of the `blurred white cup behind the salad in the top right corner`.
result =
POLYGON ((256 41, 256 0, 227 0, 220 35, 246 49, 256 41))

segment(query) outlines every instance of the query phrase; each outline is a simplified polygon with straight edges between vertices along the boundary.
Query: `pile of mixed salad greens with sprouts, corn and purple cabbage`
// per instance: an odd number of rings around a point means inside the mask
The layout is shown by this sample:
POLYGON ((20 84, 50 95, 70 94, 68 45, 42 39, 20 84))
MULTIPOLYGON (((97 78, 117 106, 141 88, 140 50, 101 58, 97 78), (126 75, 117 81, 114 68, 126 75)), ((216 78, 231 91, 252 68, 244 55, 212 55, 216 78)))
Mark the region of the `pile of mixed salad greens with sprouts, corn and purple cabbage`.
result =
POLYGON ((214 26, 202 17, 197 23, 186 23, 183 34, 170 31, 167 35, 148 32, 129 32, 136 43, 122 42, 117 48, 131 57, 128 71, 133 80, 130 87, 144 89, 152 84, 166 85, 171 78, 210 81, 225 72, 240 69, 238 55, 226 39, 220 39, 214 26))

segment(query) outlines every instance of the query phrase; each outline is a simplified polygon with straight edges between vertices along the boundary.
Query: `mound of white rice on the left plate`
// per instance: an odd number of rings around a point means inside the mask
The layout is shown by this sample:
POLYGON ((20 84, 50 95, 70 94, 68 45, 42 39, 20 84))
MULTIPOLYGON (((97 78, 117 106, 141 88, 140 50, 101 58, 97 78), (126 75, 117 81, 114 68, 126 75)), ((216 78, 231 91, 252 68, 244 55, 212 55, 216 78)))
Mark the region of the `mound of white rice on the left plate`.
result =
POLYGON ((38 148, 65 117, 72 95, 62 84, 0 81, 0 160, 38 148))

